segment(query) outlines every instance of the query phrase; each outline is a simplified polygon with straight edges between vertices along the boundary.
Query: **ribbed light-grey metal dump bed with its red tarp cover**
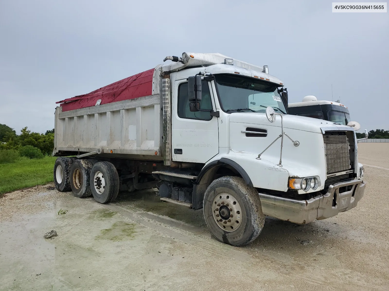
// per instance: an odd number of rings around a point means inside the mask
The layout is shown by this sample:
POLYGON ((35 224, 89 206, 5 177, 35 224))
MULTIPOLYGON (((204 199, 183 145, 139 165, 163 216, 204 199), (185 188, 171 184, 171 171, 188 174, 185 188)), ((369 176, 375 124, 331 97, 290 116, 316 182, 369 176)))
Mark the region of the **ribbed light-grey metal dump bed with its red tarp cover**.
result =
POLYGON ((159 67, 57 102, 53 155, 103 149, 162 159, 159 67))

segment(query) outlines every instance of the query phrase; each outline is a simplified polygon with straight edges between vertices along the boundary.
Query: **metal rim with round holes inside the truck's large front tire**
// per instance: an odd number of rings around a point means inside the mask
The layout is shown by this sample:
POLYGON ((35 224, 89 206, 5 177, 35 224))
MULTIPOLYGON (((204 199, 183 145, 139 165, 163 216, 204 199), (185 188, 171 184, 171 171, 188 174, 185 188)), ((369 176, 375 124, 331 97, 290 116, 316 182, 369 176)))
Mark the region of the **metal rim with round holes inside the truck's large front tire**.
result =
POLYGON ((242 208, 231 194, 220 193, 212 201, 212 215, 221 229, 227 232, 237 230, 242 222, 242 208))

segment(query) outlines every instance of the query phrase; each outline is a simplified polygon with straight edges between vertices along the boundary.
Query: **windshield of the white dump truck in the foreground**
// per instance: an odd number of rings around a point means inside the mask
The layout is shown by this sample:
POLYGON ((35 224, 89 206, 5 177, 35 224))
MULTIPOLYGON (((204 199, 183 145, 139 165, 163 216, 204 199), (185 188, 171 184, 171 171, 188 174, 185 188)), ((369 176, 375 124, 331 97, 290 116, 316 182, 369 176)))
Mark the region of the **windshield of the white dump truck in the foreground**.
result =
POLYGON ((226 112, 265 112, 271 106, 286 113, 277 85, 231 74, 216 74, 221 107, 226 112))

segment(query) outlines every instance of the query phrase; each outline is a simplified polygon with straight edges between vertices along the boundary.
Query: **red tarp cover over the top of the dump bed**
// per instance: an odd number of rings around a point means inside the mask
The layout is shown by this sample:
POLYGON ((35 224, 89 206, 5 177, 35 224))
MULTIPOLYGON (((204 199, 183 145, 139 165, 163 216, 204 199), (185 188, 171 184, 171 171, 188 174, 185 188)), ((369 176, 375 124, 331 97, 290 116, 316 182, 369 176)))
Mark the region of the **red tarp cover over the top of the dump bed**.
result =
POLYGON ((133 75, 123 80, 117 81, 88 94, 75 96, 61 103, 62 112, 89 106, 95 106, 96 101, 101 99, 100 104, 107 104, 122 100, 134 99, 149 96, 152 93, 152 74, 154 69, 133 75))

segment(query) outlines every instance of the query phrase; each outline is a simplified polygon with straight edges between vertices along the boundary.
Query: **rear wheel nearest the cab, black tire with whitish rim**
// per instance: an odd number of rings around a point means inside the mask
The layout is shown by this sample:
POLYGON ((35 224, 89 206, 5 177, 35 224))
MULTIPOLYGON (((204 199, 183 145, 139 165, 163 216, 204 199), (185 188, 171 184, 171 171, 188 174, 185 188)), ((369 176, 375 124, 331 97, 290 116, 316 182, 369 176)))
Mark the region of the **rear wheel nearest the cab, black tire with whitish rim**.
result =
POLYGON ((98 203, 114 201, 119 193, 119 175, 112 163, 98 162, 90 174, 90 188, 98 203))

